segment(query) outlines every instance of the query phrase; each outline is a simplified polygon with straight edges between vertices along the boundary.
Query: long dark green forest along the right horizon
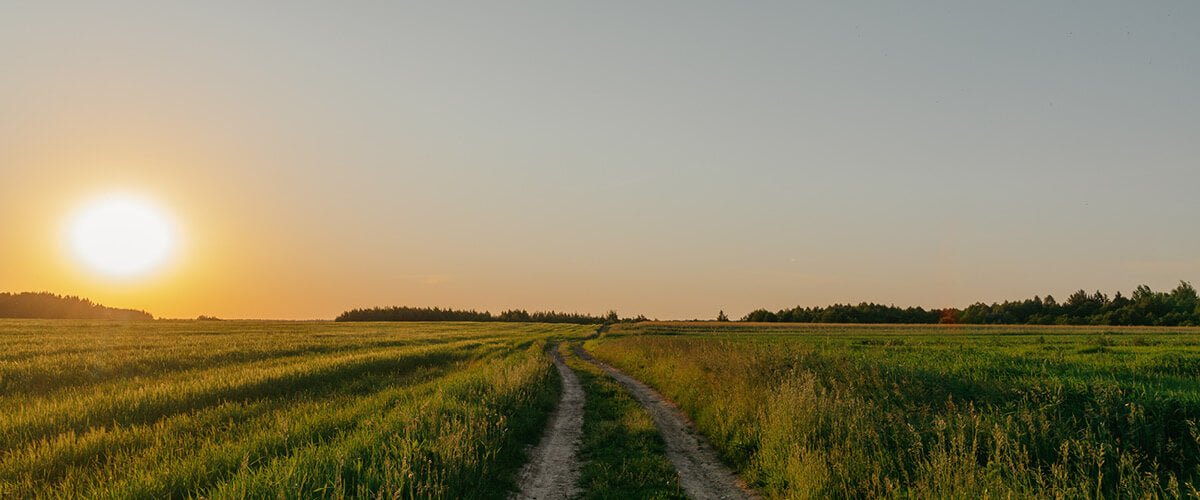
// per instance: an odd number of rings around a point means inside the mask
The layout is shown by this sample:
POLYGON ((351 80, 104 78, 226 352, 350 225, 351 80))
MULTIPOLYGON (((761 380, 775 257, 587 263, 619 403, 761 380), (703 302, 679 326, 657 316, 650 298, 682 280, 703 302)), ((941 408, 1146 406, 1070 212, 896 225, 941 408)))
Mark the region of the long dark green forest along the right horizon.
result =
POLYGON ((1200 299, 1188 282, 1171 291, 1138 287, 1128 297, 1117 291, 1109 297, 1100 291, 1079 290, 1058 302, 1054 296, 976 302, 965 309, 899 308, 877 303, 796 307, 770 312, 758 309, 742 321, 766 323, 943 323, 972 325, 1144 325, 1200 326, 1200 299))

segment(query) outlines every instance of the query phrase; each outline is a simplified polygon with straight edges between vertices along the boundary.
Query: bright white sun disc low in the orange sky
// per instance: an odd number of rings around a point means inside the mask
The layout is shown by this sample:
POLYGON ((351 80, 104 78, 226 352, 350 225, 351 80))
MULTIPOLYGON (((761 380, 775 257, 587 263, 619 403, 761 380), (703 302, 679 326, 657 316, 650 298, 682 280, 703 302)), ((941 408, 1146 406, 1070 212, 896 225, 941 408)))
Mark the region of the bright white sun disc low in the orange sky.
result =
POLYGON ((174 247, 173 228, 162 210, 128 195, 84 205, 68 228, 74 255, 112 277, 134 277, 158 267, 174 247))

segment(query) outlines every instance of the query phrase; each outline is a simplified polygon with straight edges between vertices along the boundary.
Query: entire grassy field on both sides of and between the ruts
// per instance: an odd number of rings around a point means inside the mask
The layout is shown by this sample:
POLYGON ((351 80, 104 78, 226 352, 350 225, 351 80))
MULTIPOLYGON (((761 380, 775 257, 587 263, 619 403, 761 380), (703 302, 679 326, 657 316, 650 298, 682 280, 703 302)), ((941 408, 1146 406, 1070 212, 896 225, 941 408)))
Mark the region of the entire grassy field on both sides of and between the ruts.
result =
POLYGON ((1200 329, 0 320, 0 498, 505 498, 560 392, 583 498, 683 498, 598 357, 767 498, 1200 496, 1200 329))

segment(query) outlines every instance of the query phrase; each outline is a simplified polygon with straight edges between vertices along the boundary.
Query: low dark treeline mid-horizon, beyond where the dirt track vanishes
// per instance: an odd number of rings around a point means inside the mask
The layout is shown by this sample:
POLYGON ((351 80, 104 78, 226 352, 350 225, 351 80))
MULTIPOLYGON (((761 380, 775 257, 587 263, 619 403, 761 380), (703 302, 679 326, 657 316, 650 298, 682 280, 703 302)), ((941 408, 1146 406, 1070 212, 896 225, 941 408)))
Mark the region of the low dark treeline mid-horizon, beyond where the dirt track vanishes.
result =
POLYGON ((338 314, 335 321, 509 321, 509 323, 574 323, 580 325, 601 325, 611 323, 646 321, 646 317, 619 318, 616 311, 602 317, 580 313, 559 313, 556 311, 510 309, 493 315, 484 311, 442 309, 438 307, 372 307, 370 309, 350 309, 338 314))

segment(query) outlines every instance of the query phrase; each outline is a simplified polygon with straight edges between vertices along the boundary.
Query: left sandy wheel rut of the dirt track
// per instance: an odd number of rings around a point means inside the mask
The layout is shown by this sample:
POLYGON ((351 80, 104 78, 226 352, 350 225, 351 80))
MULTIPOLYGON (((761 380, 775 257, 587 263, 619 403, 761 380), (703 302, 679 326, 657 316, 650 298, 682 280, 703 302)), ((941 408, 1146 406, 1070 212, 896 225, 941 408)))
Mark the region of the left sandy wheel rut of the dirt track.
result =
POLYGON ((563 396, 529 463, 521 469, 521 489, 514 499, 569 499, 578 493, 580 459, 576 451, 583 438, 583 386, 563 362, 557 345, 550 351, 550 357, 563 380, 563 396))

